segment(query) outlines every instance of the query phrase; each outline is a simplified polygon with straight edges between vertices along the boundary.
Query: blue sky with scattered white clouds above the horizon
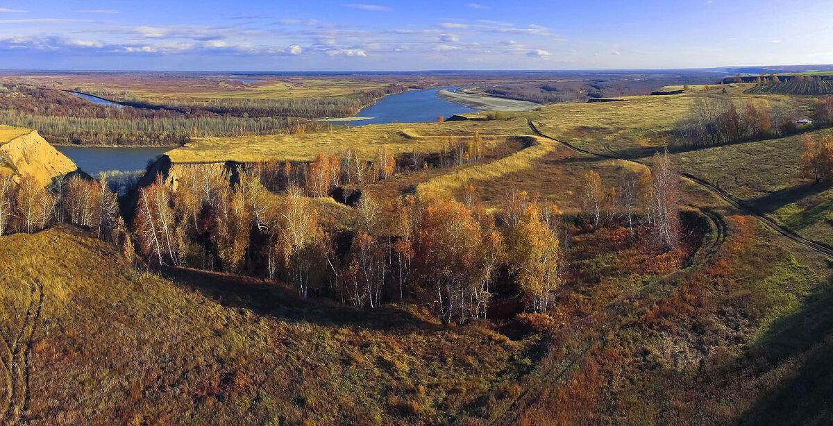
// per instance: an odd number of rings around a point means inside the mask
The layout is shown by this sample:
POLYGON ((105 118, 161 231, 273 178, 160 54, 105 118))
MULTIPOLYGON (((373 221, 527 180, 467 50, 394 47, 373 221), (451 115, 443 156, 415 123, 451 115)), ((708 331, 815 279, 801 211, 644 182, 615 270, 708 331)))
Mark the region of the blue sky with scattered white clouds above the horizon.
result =
POLYGON ((0 68, 410 71, 833 63, 807 0, 0 0, 0 68))

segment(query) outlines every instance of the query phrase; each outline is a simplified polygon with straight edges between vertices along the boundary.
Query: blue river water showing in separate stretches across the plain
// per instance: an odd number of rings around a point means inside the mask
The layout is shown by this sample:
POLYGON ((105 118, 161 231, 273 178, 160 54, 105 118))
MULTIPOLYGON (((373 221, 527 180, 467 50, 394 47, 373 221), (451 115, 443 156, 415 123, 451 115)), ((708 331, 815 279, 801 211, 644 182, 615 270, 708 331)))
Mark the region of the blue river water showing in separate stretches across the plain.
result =
MULTIPOLYGON (((437 116, 448 118, 455 114, 474 112, 471 108, 460 106, 437 97, 442 89, 454 90, 458 87, 437 87, 434 89, 415 90, 382 97, 376 104, 362 108, 358 116, 373 117, 370 120, 350 121, 352 126, 392 122, 427 122, 436 121, 437 116)), ((101 105, 122 107, 100 97, 72 92, 90 102, 101 105)), ((101 171, 136 171, 147 166, 147 161, 156 160, 172 148, 129 148, 106 146, 56 146, 57 151, 68 156, 70 160, 92 176, 101 171)))

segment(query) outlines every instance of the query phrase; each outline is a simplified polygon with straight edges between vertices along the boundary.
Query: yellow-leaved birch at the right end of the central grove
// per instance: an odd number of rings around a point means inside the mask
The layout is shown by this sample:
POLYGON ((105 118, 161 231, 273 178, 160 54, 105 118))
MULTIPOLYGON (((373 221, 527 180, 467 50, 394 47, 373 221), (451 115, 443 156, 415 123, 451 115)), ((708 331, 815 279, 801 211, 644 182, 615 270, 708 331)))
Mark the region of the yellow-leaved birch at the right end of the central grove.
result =
POLYGON ((526 208, 508 238, 511 270, 527 310, 544 312, 555 300, 561 250, 556 234, 541 218, 536 204, 526 208))

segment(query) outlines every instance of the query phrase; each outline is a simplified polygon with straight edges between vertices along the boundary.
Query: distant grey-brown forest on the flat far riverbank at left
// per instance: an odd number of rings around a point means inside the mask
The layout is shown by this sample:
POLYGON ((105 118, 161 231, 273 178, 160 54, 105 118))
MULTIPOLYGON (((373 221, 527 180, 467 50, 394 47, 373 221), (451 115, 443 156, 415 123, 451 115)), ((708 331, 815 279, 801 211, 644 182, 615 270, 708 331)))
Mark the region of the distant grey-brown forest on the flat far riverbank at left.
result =
POLYGON ((320 131, 310 120, 351 116, 387 93, 407 87, 304 100, 222 100, 170 105, 134 97, 96 96, 122 102, 121 109, 98 105, 71 93, 30 84, 0 85, 0 123, 40 131, 52 143, 72 145, 177 146, 192 137, 247 136, 320 131))

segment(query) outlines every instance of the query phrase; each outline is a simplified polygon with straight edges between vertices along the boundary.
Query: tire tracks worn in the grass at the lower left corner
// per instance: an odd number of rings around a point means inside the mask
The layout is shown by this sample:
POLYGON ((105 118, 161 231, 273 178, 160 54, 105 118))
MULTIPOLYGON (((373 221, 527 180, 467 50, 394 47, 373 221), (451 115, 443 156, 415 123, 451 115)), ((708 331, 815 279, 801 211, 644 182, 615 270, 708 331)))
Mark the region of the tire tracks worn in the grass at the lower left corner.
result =
MULTIPOLYGON (((32 337, 41 319, 43 307, 43 287, 39 282, 29 281, 29 300, 23 324, 17 331, 17 338, 9 345, 6 342, 8 358, 7 367, 7 401, 2 407, 2 423, 17 424, 21 415, 29 408, 31 396, 29 381, 32 375, 32 364, 29 362, 32 354, 32 337)), ((5 340, 5 338, 3 338, 5 340)))

